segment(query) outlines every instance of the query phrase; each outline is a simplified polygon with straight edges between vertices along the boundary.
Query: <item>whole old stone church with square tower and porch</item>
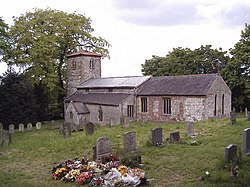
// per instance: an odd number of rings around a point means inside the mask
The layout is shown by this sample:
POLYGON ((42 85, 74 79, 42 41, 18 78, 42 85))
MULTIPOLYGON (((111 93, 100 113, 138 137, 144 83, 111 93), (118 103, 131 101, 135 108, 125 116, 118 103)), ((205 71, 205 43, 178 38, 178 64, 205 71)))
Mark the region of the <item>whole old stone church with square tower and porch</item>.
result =
POLYGON ((189 121, 229 116, 231 90, 217 74, 101 77, 101 55, 67 56, 65 121, 189 121))

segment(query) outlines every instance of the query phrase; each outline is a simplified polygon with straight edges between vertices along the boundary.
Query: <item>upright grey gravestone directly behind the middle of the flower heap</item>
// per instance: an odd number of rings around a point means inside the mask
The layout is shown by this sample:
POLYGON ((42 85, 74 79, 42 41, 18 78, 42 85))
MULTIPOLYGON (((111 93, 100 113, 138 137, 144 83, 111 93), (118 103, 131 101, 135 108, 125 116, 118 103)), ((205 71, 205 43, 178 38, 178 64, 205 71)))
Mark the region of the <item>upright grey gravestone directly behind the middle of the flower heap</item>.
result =
POLYGON ((96 159, 103 160, 103 158, 110 156, 110 140, 108 137, 103 136, 96 141, 96 159))

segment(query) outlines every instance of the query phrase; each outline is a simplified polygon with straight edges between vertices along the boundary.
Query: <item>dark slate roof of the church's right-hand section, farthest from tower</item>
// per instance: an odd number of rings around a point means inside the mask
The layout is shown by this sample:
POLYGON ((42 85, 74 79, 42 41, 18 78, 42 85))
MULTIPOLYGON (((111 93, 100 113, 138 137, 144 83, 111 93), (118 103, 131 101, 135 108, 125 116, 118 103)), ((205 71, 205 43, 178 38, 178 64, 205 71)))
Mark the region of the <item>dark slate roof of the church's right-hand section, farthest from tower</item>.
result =
POLYGON ((216 77, 216 74, 152 77, 142 85, 137 95, 205 96, 216 77))

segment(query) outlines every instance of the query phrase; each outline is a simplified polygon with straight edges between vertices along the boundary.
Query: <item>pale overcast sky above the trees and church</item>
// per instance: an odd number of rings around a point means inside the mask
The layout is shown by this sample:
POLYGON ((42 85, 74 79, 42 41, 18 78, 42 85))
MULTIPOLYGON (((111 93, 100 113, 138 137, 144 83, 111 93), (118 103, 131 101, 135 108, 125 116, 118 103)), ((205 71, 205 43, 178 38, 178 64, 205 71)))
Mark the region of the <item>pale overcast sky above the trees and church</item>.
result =
POLYGON ((48 7, 91 18, 93 35, 112 45, 103 77, 142 75, 146 59, 175 47, 228 51, 250 23, 249 0, 0 0, 0 17, 12 25, 13 16, 48 7))

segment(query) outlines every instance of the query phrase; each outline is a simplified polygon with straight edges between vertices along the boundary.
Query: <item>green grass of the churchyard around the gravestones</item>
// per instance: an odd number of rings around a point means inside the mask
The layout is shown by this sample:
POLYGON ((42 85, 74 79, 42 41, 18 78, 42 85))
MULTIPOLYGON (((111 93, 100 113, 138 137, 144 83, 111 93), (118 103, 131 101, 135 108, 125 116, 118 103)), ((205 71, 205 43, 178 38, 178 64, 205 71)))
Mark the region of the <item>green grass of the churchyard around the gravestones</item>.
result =
MULTIPOLYGON (((248 186, 250 184, 250 157, 242 155, 238 177, 231 177, 230 168, 224 167, 224 152, 228 144, 242 148, 243 130, 250 127, 245 118, 237 118, 237 125, 228 119, 195 123, 197 137, 186 135, 185 123, 133 123, 122 126, 97 126, 92 136, 75 132, 68 138, 59 134, 62 121, 44 124, 41 130, 15 133, 12 144, 0 147, 0 186, 75 186, 55 181, 51 169, 66 159, 87 157, 92 160, 96 139, 108 136, 114 155, 123 155, 123 134, 135 131, 137 149, 142 154, 149 186, 248 186), (151 129, 163 128, 164 145, 150 146, 151 129), (169 134, 179 131, 181 142, 170 144, 169 134), (190 145, 197 141, 197 146, 190 145), (206 176, 205 172, 210 175, 206 176), (201 180, 202 179, 202 180, 201 180)), ((87 186, 87 185, 86 185, 87 186)))

